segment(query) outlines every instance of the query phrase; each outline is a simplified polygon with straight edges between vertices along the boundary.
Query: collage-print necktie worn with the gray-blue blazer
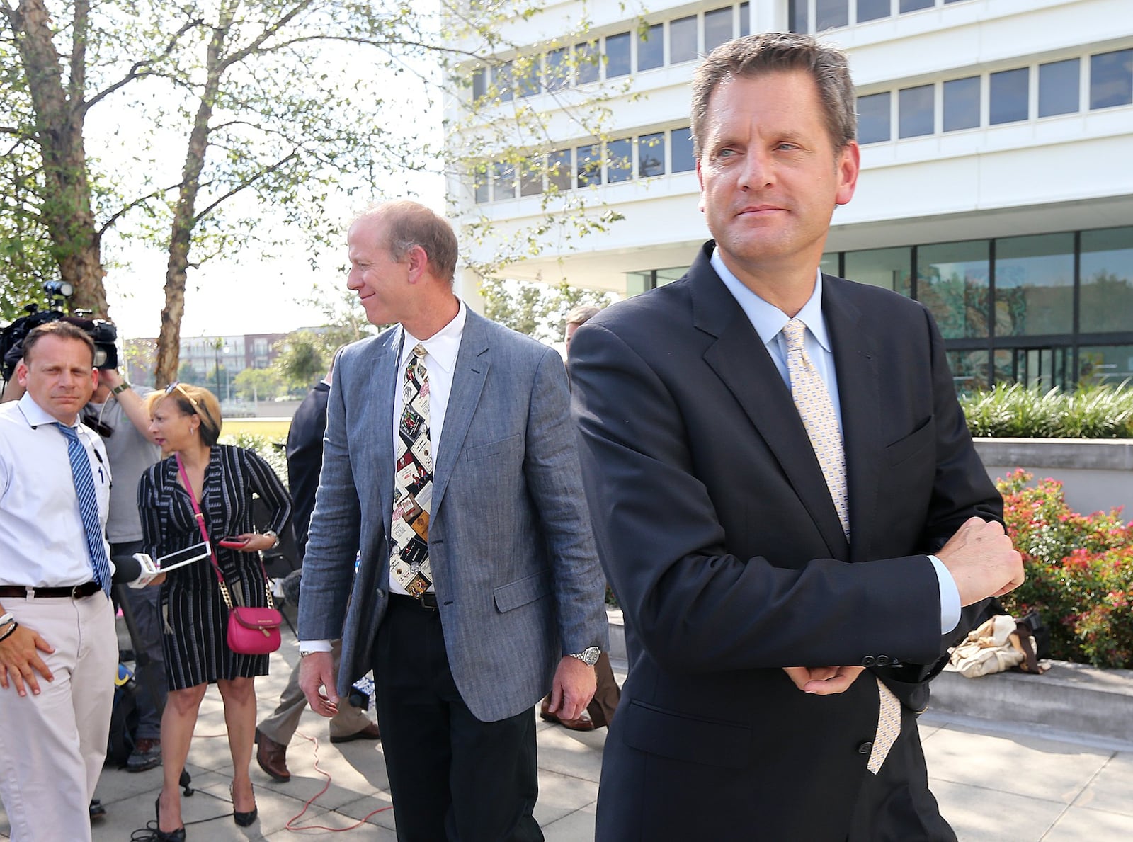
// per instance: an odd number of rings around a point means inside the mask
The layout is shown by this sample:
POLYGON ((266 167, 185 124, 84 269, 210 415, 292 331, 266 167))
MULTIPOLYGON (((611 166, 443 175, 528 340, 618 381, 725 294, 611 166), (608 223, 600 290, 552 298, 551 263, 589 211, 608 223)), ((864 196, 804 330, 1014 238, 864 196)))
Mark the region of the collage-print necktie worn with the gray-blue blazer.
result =
POLYGON ((429 444, 428 372, 419 342, 400 384, 403 408, 398 423, 390 527, 390 578, 410 596, 433 586, 428 563, 428 513, 433 502, 433 452, 429 444))

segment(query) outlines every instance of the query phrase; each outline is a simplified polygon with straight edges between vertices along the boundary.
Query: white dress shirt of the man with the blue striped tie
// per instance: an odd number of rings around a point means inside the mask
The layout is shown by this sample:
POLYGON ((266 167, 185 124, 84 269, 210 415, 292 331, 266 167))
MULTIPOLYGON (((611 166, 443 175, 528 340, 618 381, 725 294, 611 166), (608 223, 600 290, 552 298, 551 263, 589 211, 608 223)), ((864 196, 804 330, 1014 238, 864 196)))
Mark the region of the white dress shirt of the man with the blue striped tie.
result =
MULTIPOLYGON (((110 461, 93 431, 78 423, 74 429, 91 461, 105 545, 110 461)), ((25 393, 0 406, 0 585, 70 587, 93 578, 67 439, 25 393)))

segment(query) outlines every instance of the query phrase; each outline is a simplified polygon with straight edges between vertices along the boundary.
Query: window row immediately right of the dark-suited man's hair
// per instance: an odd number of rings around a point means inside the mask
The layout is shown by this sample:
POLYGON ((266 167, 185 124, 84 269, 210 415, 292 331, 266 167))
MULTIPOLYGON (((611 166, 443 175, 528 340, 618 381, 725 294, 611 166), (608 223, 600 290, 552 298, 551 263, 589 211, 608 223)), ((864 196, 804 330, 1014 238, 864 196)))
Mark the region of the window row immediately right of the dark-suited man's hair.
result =
POLYGON ((858 142, 881 143, 1133 103, 1133 49, 858 97, 858 142), (1032 90, 1033 88, 1033 90, 1032 90))

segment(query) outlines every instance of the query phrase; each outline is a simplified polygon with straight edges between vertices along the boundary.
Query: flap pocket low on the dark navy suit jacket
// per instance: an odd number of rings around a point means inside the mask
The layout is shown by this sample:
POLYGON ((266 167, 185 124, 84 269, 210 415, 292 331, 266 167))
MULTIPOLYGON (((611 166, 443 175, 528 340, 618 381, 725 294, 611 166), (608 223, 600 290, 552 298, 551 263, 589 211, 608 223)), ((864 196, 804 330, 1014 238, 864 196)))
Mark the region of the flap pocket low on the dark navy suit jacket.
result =
POLYGON ((687 716, 636 700, 617 714, 622 739, 639 751, 726 768, 743 768, 751 760, 751 725, 687 716))

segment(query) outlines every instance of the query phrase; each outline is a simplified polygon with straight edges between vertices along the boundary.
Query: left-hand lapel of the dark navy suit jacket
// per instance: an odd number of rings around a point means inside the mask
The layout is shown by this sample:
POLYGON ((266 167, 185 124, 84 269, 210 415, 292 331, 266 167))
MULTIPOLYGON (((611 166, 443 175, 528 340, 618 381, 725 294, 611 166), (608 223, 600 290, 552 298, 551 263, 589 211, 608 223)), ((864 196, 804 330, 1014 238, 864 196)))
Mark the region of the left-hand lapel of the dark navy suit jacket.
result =
POLYGON ((832 558, 846 558, 845 535, 791 390, 743 309, 712 269, 707 252, 697 256, 689 275, 693 323, 716 337, 705 351, 705 362, 735 396, 766 442, 832 558))

